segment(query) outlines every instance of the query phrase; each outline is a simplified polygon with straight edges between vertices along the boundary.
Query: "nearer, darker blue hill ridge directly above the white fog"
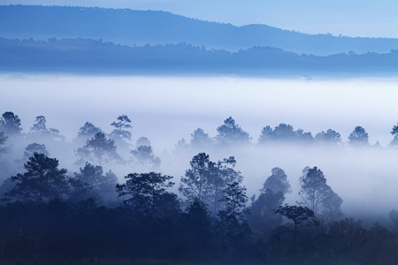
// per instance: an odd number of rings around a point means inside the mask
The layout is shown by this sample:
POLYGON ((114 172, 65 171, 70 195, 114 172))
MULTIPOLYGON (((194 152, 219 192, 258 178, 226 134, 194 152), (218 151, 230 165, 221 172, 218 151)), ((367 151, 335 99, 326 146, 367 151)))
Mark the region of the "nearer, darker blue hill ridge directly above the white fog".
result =
POLYGON ((0 38, 1 72, 115 74, 240 74, 374 76, 398 73, 398 49, 387 54, 297 55, 253 47, 238 52, 186 43, 129 47, 88 39, 8 40, 0 38))

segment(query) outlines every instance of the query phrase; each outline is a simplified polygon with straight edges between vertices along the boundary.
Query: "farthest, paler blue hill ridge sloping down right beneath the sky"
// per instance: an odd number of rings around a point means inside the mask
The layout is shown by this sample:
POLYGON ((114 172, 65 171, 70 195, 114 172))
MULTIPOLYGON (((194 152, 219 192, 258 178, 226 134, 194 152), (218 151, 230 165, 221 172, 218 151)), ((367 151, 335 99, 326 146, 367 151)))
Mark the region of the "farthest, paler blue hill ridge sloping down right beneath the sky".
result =
POLYGON ((0 36, 42 40, 79 37, 130 46, 186 42, 228 51, 264 46, 318 56, 398 49, 398 39, 301 34, 265 25, 234 27, 164 11, 38 5, 1 5, 0 36))

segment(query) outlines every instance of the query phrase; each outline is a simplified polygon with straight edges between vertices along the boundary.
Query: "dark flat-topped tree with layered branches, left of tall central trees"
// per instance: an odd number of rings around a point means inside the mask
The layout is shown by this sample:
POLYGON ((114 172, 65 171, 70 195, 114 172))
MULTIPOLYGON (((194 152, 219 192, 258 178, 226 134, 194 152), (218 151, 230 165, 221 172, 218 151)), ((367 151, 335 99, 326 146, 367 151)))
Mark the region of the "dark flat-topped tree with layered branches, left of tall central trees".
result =
POLYGON ((130 173, 126 177, 125 184, 118 184, 119 196, 126 199, 124 204, 131 207, 135 212, 145 213, 148 210, 155 214, 163 206, 164 201, 170 201, 171 197, 176 200, 176 195, 166 191, 174 183, 170 181, 171 176, 162 175, 156 172, 130 173))

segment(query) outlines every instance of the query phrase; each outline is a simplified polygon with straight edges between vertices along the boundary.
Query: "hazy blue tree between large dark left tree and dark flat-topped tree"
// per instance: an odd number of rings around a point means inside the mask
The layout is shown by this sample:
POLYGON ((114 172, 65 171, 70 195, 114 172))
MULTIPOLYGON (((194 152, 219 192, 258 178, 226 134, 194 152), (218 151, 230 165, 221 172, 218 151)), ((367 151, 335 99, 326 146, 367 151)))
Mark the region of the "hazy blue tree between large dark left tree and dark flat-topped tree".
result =
POLYGON ((74 173, 74 178, 87 183, 92 193, 96 194, 96 198, 111 200, 116 195, 115 187, 118 184, 118 178, 111 170, 103 174, 101 166, 86 163, 83 168, 80 168, 79 173, 74 173))

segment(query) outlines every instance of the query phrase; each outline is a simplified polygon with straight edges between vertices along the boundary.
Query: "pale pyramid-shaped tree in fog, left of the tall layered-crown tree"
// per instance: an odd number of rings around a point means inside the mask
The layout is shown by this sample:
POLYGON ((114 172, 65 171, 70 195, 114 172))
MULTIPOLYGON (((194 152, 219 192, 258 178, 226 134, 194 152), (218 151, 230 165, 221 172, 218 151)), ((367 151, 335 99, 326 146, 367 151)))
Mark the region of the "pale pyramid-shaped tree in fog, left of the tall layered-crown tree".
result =
POLYGON ((102 132, 96 133, 75 153, 80 157, 77 163, 90 162, 104 167, 122 161, 120 155, 116 152, 115 141, 106 138, 105 133, 102 132))

